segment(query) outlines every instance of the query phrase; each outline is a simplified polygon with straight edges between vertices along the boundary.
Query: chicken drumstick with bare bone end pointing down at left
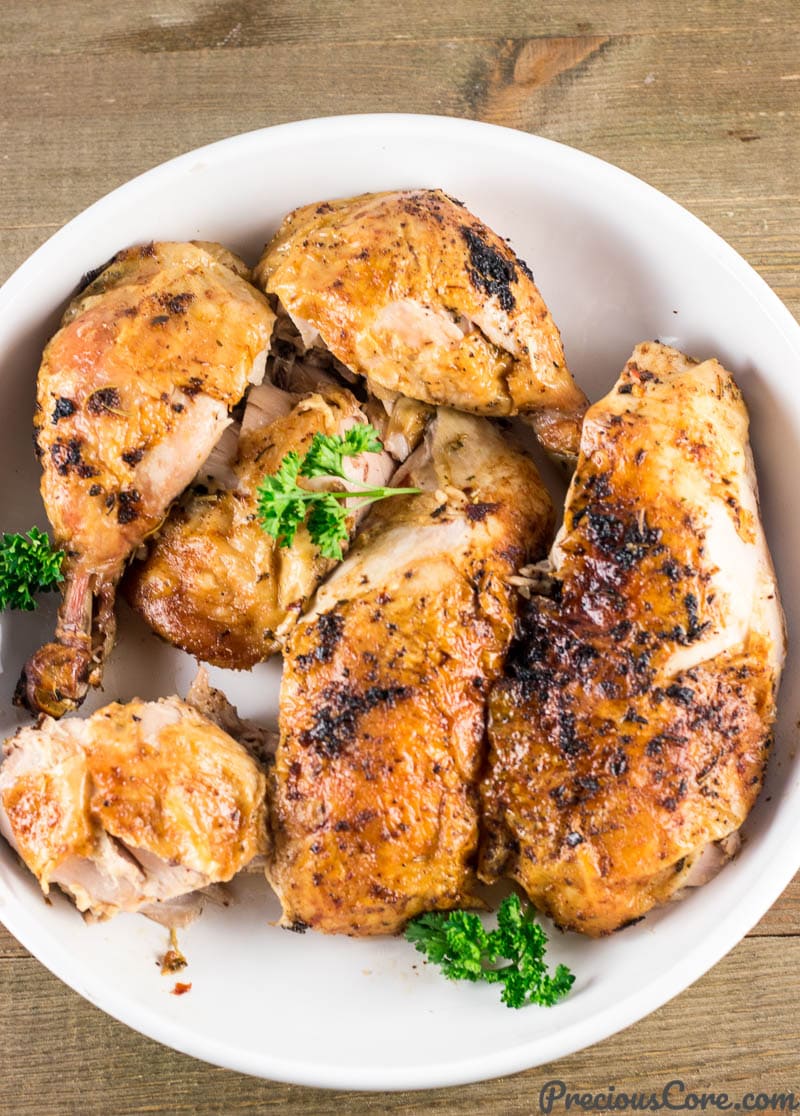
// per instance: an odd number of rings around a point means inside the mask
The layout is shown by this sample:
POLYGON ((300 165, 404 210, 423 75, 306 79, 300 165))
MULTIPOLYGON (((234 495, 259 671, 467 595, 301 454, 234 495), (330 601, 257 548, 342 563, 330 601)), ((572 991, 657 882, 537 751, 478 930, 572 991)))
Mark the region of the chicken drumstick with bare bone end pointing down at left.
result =
POLYGON ((128 556, 161 523, 263 375, 274 315, 219 246, 119 252, 73 300, 39 369, 37 452, 67 551, 55 643, 18 701, 59 716, 98 685, 128 556))

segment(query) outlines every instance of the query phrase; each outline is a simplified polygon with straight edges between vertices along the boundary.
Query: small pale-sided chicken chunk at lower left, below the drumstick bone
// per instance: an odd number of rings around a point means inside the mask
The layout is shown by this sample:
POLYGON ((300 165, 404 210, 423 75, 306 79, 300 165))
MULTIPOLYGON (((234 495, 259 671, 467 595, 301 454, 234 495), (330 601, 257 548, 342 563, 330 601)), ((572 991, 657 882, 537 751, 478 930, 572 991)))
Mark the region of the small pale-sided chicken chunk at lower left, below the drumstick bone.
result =
POLYGON ((170 901, 267 850, 259 766, 177 698, 45 718, 4 754, 0 831, 46 895, 57 884, 95 918, 155 906, 168 921, 170 901))

